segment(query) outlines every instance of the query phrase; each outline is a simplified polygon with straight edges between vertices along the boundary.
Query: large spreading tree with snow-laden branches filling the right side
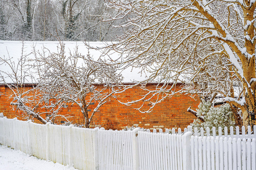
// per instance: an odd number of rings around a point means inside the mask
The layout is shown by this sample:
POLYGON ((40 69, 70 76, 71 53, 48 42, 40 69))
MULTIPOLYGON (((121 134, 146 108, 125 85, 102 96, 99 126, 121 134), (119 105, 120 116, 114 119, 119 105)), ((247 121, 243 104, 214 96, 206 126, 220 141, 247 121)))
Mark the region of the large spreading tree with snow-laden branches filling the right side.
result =
POLYGON ((116 44, 105 48, 106 53, 120 54, 109 64, 146 72, 147 78, 135 85, 158 83, 154 90, 143 85, 147 94, 136 100, 151 102, 148 111, 175 93, 209 96, 216 92, 242 110, 245 126, 256 124, 255 1, 106 2, 120 11, 113 20, 131 16, 117 27, 132 26, 116 44), (196 88, 175 89, 179 81, 196 88))

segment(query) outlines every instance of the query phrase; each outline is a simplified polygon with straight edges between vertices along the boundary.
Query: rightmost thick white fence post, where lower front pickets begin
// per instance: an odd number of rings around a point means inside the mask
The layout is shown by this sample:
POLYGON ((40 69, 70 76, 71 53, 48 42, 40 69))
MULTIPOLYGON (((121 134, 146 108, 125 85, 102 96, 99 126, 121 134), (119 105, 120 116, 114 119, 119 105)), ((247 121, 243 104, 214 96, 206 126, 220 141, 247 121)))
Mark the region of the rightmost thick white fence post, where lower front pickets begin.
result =
POLYGON ((183 170, 191 170, 191 139, 192 132, 188 131, 183 135, 183 170))

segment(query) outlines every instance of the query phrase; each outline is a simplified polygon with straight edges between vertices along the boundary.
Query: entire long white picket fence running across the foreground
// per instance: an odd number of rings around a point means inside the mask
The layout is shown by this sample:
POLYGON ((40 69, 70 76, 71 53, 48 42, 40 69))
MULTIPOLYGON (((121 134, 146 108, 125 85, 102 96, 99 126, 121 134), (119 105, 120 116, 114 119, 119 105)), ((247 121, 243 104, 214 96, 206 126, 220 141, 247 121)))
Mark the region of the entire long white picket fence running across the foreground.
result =
POLYGON ((77 169, 256 169, 256 126, 200 129, 105 130, 0 118, 0 143, 77 169), (206 134, 206 136, 204 136, 206 134))

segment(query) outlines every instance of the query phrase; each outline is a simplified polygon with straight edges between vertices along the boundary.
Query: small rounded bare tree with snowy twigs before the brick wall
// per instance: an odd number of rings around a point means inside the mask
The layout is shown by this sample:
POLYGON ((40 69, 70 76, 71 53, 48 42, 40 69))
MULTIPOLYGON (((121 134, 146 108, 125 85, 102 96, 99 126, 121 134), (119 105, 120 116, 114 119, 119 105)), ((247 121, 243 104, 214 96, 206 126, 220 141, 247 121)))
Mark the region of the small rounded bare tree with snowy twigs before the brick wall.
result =
POLYGON ((99 108, 110 97, 115 97, 123 79, 121 74, 116 73, 115 66, 93 62, 88 56, 79 54, 77 48, 74 53, 67 54, 65 44, 60 42, 57 53, 45 48, 44 53, 37 54, 35 60, 39 75, 37 88, 44 102, 76 104, 84 117, 78 125, 86 128, 92 124, 99 108), (92 103, 96 107, 89 115, 88 107, 92 103))

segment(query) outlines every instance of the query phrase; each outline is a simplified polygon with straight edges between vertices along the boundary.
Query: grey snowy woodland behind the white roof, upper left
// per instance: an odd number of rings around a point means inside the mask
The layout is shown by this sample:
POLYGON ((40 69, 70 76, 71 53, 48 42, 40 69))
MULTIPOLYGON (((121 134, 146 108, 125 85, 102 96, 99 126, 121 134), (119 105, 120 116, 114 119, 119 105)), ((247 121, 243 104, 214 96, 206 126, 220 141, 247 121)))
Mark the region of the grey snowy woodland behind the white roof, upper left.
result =
MULTIPOLYGON (((124 28, 112 28, 116 15, 104 0, 0 0, 0 40, 111 41, 124 28)), ((118 21, 120 22, 120 21, 118 21)))

